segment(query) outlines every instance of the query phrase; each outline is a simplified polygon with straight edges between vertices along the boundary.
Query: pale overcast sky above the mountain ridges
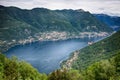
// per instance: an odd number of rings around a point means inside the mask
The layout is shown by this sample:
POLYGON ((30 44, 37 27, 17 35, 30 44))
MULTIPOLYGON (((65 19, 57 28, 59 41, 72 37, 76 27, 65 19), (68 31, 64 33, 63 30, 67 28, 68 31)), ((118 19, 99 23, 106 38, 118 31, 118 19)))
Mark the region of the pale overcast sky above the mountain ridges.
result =
POLYGON ((22 9, 44 7, 48 9, 83 9, 91 13, 120 16, 120 0, 0 0, 0 5, 22 9))

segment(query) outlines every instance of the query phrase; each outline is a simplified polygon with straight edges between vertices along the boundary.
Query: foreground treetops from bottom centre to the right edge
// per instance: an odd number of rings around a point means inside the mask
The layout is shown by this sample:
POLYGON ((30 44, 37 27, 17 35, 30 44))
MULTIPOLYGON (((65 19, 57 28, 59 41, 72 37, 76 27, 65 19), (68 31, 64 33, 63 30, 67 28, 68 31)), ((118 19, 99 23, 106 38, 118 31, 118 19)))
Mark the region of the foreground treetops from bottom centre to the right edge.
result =
POLYGON ((48 80, 120 80, 120 52, 112 58, 95 62, 87 69, 56 70, 49 74, 48 80))

